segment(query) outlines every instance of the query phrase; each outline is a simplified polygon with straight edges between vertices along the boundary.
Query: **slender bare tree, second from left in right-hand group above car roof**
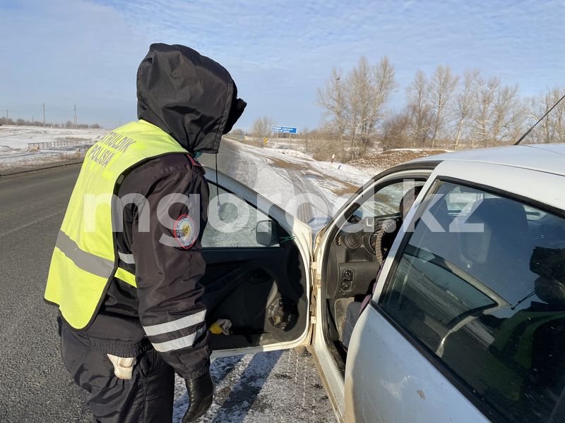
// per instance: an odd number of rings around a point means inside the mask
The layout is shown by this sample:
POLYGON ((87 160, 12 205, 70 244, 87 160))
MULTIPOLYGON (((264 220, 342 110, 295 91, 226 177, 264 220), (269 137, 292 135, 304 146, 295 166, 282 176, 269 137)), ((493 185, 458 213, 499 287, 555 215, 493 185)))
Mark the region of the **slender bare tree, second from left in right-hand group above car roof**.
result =
POLYGON ((429 80, 429 102, 434 114, 432 122, 432 148, 436 137, 444 127, 447 106, 453 99, 459 77, 451 73, 449 66, 439 65, 429 80))

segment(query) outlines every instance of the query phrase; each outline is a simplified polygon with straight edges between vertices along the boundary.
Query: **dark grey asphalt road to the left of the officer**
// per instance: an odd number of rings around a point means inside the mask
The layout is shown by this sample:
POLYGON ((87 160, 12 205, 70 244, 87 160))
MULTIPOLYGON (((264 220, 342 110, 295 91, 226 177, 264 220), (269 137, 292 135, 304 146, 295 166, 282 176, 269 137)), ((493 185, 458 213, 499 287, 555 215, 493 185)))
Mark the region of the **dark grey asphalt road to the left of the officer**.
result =
POLYGON ((88 421, 43 302, 57 232, 80 166, 0 178, 0 422, 88 421))

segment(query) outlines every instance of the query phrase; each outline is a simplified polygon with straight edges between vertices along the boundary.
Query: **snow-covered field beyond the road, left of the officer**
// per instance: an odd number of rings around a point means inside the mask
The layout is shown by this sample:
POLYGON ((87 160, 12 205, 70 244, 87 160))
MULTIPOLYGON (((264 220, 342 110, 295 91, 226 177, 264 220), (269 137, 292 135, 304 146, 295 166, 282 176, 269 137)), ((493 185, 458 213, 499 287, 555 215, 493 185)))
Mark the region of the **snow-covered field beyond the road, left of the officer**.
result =
POLYGON ((0 126, 0 168, 45 163, 80 156, 85 145, 96 141, 108 131, 105 129, 43 128, 39 126, 0 126), (28 150, 30 142, 73 141, 78 145, 52 149, 28 150), (81 142, 84 142, 81 144, 81 142))

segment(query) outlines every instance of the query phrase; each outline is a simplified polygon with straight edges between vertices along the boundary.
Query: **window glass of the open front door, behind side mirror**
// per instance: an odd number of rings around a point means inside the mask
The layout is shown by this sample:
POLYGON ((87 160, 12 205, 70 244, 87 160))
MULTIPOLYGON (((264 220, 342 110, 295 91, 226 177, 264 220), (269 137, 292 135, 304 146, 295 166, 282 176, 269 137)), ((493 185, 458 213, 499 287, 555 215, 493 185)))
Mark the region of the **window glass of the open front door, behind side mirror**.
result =
MULTIPOLYGON (((272 219, 231 192, 219 188, 219 196, 216 193, 215 187, 210 189, 208 225, 202 235, 202 247, 266 247, 257 242, 257 223, 260 230, 269 227, 275 230, 274 224, 265 224, 272 219)), ((268 246, 277 247, 278 243, 275 240, 268 246)))

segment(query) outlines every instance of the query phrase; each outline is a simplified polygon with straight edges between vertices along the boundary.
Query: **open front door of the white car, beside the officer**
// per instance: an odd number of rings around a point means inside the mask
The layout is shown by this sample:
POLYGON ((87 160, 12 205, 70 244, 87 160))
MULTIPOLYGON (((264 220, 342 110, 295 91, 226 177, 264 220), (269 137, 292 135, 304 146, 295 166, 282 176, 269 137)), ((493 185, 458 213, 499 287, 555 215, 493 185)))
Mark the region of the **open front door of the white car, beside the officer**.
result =
POLYGON ((201 283, 208 327, 225 329, 213 334, 213 357, 308 344, 309 226, 223 173, 206 168, 206 178, 201 283))

